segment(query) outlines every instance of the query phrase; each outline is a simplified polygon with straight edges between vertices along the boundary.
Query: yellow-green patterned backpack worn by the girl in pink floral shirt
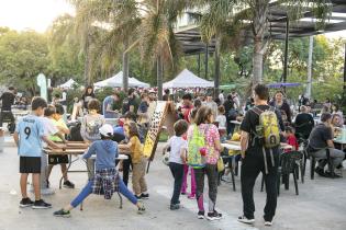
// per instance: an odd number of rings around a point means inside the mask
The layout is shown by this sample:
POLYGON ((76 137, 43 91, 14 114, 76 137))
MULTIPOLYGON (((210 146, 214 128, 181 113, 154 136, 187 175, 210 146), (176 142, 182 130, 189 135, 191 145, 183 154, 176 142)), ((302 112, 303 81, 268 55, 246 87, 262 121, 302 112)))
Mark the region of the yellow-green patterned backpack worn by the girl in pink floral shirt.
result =
POLYGON ((199 131, 196 124, 193 126, 192 137, 188 140, 188 165, 193 169, 205 166, 205 157, 201 154, 201 149, 205 147, 205 136, 199 131))

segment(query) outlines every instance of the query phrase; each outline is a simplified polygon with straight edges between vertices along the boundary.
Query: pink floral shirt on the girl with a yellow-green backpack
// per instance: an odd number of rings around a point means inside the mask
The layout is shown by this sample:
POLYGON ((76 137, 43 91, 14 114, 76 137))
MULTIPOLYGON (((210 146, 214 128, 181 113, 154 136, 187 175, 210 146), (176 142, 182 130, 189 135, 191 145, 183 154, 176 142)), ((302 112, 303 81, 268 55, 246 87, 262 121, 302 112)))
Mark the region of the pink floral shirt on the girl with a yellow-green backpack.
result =
MULTIPOLYGON (((188 139, 193 136, 193 127, 190 126, 188 130, 188 139)), ((215 125, 212 124, 201 124, 198 126, 201 134, 205 134, 205 141, 208 148, 207 163, 216 164, 220 157, 220 150, 215 148, 215 141, 220 140, 219 129, 215 125)))

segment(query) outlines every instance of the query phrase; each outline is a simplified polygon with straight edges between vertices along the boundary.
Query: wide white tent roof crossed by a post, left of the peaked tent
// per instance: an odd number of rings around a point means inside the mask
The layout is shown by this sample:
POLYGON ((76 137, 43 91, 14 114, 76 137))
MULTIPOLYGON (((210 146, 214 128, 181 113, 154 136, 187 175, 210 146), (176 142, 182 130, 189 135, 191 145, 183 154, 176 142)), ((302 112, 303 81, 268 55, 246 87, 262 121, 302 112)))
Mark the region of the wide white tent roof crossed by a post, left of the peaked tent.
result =
MULTIPOLYGON (((104 87, 122 87, 123 85, 123 71, 118 72, 115 76, 105 79, 103 81, 99 81, 93 84, 97 88, 104 87)), ((139 87, 139 88, 149 88, 148 83, 142 82, 135 78, 129 78, 129 87, 139 87)))

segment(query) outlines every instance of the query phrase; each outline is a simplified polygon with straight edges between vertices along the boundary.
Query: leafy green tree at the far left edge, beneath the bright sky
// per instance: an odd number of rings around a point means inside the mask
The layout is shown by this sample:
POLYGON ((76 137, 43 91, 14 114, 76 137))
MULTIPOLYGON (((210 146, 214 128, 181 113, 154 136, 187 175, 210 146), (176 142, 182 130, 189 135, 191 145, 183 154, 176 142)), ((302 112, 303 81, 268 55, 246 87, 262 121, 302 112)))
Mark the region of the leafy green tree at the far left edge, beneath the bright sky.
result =
POLYGON ((33 31, 0 31, 0 80, 35 95, 36 77, 47 72, 49 62, 45 35, 33 31))

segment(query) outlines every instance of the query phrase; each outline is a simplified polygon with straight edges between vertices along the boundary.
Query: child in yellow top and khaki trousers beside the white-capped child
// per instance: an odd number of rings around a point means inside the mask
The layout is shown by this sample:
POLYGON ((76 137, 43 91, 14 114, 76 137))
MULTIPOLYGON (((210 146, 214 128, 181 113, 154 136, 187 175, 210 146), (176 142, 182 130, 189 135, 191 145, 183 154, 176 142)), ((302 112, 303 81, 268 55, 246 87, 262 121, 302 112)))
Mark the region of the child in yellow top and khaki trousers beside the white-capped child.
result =
POLYGON ((138 128, 134 122, 124 126, 129 143, 119 145, 121 149, 129 149, 132 159, 132 186, 137 199, 148 199, 147 185, 145 181, 146 158, 143 156, 143 147, 139 141, 138 128))

